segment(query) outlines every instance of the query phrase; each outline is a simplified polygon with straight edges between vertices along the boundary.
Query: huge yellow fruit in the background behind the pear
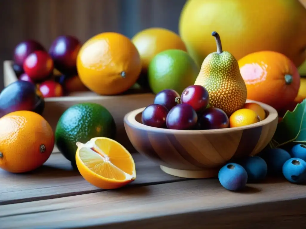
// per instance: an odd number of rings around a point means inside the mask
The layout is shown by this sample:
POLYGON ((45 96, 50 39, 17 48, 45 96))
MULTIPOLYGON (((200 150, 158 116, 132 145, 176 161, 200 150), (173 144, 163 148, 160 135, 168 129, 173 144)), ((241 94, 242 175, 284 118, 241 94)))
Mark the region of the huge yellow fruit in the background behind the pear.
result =
POLYGON ((263 50, 283 53, 296 66, 306 58, 306 9, 298 0, 188 0, 179 32, 199 65, 215 52, 212 31, 237 60, 263 50))

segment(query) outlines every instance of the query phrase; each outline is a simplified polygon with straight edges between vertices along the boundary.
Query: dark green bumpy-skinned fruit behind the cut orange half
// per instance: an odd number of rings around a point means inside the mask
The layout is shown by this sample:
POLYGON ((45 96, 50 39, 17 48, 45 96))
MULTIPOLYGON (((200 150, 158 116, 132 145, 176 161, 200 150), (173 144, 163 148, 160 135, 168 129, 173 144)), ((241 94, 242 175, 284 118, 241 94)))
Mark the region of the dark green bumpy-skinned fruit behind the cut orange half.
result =
POLYGON ((81 103, 69 107, 60 117, 55 129, 58 150, 72 164, 75 163, 76 142, 86 143, 94 137, 116 136, 113 116, 103 106, 81 103))

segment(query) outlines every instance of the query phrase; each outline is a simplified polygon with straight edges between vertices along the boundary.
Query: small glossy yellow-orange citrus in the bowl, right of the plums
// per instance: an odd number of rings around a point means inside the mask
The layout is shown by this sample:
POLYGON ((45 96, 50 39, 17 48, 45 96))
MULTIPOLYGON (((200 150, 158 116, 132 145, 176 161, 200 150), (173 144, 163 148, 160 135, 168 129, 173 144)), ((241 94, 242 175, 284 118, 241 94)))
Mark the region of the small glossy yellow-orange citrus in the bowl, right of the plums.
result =
POLYGON ((235 111, 230 116, 230 127, 251 125, 259 121, 260 118, 255 111, 251 109, 242 108, 235 111))

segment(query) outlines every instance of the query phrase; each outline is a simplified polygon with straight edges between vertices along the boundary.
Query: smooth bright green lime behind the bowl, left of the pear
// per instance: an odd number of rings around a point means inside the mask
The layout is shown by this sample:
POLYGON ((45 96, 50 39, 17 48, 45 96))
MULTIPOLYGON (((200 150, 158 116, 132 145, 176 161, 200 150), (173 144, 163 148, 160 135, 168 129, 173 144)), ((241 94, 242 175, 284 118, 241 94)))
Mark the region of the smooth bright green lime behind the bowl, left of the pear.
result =
POLYGON ((199 66, 188 53, 168 49, 151 60, 148 67, 149 85, 155 94, 164 89, 173 89, 181 95, 186 87, 194 84, 199 72, 199 66))

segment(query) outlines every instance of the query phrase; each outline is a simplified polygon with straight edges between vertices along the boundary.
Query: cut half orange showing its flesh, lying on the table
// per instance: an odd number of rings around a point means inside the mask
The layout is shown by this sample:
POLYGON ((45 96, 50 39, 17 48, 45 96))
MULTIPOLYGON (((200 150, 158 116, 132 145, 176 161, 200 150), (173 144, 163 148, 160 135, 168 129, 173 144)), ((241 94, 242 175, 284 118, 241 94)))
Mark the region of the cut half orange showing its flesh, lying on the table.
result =
POLYGON ((76 145, 76 166, 90 184, 115 189, 136 179, 132 155, 115 140, 96 137, 76 145))

